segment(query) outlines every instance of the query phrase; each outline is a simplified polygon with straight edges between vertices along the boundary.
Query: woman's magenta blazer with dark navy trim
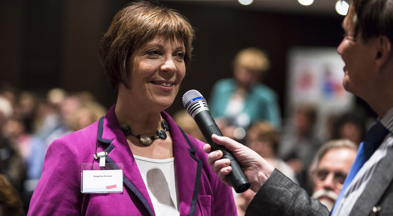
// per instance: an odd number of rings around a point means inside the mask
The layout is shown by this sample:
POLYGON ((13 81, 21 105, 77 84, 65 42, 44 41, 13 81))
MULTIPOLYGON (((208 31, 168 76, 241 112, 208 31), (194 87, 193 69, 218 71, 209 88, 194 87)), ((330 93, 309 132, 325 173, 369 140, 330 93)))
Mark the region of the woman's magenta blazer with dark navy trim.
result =
MULTIPOLYGON (((99 121, 49 146, 28 216, 155 215, 114 107, 99 121), (123 163, 123 192, 81 193, 81 164, 98 163, 93 155, 102 151, 109 153, 107 162, 123 163)), ((161 114, 173 140, 180 216, 237 215, 232 189, 207 164, 204 143, 183 134, 168 113, 161 114)))

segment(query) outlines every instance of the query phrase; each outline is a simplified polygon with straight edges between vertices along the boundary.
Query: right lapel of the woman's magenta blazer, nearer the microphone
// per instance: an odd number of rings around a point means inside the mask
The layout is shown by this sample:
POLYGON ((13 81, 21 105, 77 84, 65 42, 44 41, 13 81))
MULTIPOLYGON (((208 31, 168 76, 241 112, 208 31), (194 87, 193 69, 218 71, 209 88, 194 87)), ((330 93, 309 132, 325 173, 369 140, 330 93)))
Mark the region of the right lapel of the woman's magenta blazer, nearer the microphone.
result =
POLYGON ((168 122, 173 141, 180 215, 194 215, 197 207, 202 162, 195 157, 192 143, 168 113, 162 112, 161 115, 168 122))

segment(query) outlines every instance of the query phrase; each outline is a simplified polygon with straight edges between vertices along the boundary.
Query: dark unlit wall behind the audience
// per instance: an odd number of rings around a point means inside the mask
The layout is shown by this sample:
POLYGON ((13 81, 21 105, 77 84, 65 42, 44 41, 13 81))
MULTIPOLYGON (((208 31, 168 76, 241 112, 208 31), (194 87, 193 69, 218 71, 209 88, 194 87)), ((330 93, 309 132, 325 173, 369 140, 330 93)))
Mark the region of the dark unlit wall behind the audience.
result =
MULTIPOLYGON (((105 107, 116 102, 98 58, 98 43, 125 0, 5 0, 0 2, 0 81, 41 94, 53 87, 92 92, 105 107)), ((197 89, 207 99, 215 81, 232 76, 231 61, 254 46, 270 56, 263 80, 285 102, 287 51, 293 46, 337 47, 340 15, 295 15, 250 9, 162 1, 196 28, 194 60, 170 114, 181 96, 197 89)), ((359 101, 359 99, 358 99, 359 101)), ((362 103, 362 102, 358 102, 362 103)))

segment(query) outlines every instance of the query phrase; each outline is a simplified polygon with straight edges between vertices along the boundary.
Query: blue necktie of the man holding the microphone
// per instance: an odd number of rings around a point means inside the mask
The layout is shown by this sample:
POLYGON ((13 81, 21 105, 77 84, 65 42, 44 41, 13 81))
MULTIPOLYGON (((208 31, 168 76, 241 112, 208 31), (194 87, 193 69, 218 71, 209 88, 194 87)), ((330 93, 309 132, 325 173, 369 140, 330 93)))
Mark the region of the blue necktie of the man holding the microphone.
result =
MULTIPOLYGON (((355 161, 353 162, 351 169, 345 179, 344 185, 338 195, 336 200, 336 204, 339 203, 339 200, 343 196, 346 188, 352 182, 353 178, 355 178, 356 174, 362 168, 363 164, 371 157, 374 151, 381 145, 385 136, 388 134, 388 130, 378 121, 375 125, 373 125, 370 130, 365 134, 364 141, 360 143, 358 153, 356 155, 355 161)), ((335 204, 332 215, 334 215, 334 211, 337 207, 335 204)))

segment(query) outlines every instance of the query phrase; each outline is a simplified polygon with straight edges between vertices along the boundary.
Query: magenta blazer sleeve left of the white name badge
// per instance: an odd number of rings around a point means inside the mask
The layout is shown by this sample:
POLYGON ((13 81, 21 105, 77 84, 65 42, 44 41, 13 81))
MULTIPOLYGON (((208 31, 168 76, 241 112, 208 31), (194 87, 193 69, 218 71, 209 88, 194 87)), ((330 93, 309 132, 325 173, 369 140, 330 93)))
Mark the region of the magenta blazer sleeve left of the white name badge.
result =
POLYGON ((63 141, 55 140, 46 153, 28 216, 80 215, 80 184, 81 165, 76 150, 63 141))

